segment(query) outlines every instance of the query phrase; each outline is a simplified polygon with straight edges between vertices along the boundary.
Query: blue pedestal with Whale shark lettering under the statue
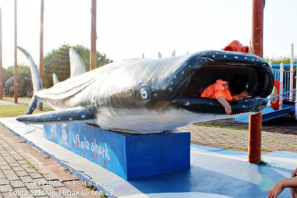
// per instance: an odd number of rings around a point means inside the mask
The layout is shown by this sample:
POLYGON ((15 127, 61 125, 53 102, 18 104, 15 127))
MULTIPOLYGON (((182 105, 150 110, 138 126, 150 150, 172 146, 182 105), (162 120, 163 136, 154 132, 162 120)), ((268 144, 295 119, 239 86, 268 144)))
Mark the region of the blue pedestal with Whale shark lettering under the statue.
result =
POLYGON ((190 168, 190 132, 131 134, 69 123, 45 124, 44 137, 126 180, 190 168))

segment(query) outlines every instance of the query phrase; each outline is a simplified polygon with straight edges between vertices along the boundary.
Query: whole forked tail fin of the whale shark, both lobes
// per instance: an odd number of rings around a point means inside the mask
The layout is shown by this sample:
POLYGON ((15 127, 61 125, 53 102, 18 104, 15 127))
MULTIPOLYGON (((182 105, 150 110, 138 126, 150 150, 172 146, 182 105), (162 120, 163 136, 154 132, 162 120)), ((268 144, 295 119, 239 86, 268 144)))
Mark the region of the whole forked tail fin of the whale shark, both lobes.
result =
POLYGON ((31 70, 31 77, 32 77, 32 83, 33 83, 33 97, 31 99, 31 102, 29 104, 29 107, 26 111, 26 114, 32 114, 33 111, 36 109, 37 105, 40 103, 40 101, 38 101, 38 98, 35 96, 35 93, 37 91, 43 90, 43 86, 42 86, 42 82, 39 76, 39 72, 37 69, 36 64, 34 63, 31 55, 23 48, 17 46, 17 48, 23 52, 25 54, 25 56, 27 57, 28 61, 29 61, 29 65, 30 65, 30 70, 31 70))

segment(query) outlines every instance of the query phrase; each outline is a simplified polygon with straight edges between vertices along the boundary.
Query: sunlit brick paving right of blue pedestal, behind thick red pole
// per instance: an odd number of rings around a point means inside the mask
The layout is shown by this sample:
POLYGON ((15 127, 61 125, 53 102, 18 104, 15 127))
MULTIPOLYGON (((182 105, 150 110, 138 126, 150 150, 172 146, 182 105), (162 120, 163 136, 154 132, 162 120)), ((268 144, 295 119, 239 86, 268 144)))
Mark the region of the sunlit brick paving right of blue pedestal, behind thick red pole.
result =
MULTIPOLYGON (((248 131, 187 125, 179 129, 191 132, 191 141, 247 151, 248 131)), ((262 131, 262 151, 296 150, 297 135, 262 131)))

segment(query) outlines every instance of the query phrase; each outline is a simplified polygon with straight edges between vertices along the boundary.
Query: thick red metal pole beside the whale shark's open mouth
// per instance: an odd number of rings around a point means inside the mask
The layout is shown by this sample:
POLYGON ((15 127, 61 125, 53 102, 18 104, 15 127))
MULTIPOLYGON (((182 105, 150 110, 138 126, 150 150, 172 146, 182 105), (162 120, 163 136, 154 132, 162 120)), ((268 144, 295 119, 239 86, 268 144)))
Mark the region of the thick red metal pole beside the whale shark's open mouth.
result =
MULTIPOLYGON (((263 57, 263 11, 264 0, 252 1, 251 52, 263 57)), ((248 162, 261 160, 262 113, 249 116, 248 126, 248 162)))

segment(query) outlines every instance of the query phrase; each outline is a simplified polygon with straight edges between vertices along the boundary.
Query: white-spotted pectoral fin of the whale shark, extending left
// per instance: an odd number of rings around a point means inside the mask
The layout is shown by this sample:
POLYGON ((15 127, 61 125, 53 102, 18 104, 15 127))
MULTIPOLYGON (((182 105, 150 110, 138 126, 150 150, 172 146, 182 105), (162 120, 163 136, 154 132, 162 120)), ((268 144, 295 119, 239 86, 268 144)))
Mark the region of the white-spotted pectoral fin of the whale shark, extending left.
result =
POLYGON ((16 118, 16 120, 31 124, 47 124, 66 122, 95 122, 96 119, 88 109, 83 107, 75 107, 41 114, 19 116, 16 118))

